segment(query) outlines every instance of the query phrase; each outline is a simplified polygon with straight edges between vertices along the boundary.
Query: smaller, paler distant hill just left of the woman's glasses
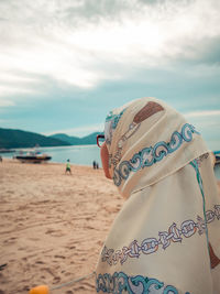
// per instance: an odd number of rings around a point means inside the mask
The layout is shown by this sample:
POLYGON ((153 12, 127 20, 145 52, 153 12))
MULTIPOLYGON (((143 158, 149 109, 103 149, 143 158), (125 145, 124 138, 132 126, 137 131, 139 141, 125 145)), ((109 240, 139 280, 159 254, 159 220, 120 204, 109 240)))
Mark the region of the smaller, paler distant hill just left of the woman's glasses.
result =
POLYGON ((97 134, 100 134, 100 133, 101 132, 95 132, 84 138, 70 137, 65 133, 56 133, 56 134, 51 135, 51 138, 68 142, 72 145, 90 145, 90 144, 96 144, 97 134))

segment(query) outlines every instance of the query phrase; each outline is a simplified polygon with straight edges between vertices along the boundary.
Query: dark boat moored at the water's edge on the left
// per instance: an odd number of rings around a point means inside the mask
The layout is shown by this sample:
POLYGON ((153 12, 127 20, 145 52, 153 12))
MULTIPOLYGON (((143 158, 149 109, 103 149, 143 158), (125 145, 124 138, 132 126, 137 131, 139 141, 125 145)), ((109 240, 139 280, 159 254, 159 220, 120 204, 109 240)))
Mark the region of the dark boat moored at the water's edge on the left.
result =
POLYGON ((50 161, 52 156, 47 154, 42 154, 40 151, 30 151, 30 152, 23 152, 20 151, 20 154, 14 156, 14 159, 19 160, 20 162, 24 163, 42 163, 50 161))

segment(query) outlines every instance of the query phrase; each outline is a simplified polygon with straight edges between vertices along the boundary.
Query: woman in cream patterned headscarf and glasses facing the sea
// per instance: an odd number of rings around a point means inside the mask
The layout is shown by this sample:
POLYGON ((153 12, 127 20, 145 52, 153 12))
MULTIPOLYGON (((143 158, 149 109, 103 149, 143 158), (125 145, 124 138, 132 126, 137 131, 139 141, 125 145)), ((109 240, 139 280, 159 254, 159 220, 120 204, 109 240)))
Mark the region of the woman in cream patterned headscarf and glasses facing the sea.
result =
POLYGON ((99 293, 220 293, 220 199, 209 150, 154 98, 109 113, 105 174, 125 203, 101 251, 99 293))

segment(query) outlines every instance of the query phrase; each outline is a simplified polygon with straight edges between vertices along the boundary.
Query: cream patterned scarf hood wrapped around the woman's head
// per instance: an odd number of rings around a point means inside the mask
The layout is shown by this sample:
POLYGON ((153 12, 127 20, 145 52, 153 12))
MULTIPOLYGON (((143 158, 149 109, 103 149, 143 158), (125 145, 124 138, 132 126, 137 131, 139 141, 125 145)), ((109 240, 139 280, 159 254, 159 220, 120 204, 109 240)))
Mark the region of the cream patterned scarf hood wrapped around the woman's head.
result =
POLYGON ((151 97, 110 111, 105 137, 110 175, 125 198, 208 151, 193 124, 151 97))

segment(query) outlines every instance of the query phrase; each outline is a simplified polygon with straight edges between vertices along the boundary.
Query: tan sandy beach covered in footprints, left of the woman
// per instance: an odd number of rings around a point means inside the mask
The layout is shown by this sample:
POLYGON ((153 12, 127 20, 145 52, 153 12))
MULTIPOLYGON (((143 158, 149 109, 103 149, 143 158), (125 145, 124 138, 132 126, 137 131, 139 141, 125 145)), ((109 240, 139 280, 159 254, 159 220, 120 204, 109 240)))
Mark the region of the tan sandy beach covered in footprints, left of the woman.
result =
MULTIPOLYGON (((94 272, 123 199, 102 170, 0 163, 0 294, 50 288, 94 272)), ((53 294, 90 294, 95 279, 53 294)))

